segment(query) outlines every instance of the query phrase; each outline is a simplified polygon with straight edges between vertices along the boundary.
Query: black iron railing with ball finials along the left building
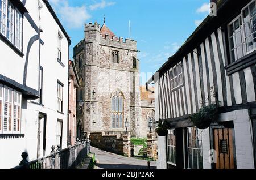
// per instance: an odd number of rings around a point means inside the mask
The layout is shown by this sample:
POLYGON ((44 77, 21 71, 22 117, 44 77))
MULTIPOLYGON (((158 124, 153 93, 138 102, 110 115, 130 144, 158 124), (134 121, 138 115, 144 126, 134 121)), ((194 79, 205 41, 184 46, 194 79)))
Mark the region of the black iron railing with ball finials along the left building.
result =
POLYGON ((79 166, 90 153, 90 140, 80 140, 76 145, 61 149, 58 145, 55 151, 55 146, 52 146, 51 155, 38 158, 37 160, 28 162, 28 153, 23 152, 23 160, 19 166, 13 169, 70 169, 79 166))

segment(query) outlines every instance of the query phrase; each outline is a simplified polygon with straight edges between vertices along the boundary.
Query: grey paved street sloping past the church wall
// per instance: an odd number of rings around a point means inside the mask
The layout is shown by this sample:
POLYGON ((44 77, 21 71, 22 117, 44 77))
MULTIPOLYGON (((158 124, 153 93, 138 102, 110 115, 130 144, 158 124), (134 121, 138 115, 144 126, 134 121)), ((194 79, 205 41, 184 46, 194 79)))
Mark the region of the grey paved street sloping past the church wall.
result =
MULTIPOLYGON (((145 160, 115 155, 94 147, 91 147, 91 152, 95 153, 98 169, 147 169, 148 161, 145 160)), ((151 161, 151 169, 155 168, 156 162, 151 161)))

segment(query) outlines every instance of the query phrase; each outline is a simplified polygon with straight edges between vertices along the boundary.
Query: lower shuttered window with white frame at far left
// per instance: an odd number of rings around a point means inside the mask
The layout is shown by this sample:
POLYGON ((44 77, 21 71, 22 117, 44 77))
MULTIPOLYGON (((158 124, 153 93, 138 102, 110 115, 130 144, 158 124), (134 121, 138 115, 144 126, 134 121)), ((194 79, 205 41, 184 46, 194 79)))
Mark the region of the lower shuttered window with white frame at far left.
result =
POLYGON ((0 84, 0 134, 20 133, 21 94, 0 84))

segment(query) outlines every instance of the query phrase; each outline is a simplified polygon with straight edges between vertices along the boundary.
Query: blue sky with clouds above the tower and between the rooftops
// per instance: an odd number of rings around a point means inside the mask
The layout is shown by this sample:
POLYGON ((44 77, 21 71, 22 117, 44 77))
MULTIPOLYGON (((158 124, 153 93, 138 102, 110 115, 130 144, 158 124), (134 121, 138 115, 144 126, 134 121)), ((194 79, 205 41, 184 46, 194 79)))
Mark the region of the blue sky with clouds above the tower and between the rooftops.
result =
POLYGON ((137 40, 144 84, 176 52, 209 13, 209 0, 49 0, 71 36, 84 38, 84 23, 106 25, 118 37, 137 40), (146 75, 146 76, 145 76, 146 75))

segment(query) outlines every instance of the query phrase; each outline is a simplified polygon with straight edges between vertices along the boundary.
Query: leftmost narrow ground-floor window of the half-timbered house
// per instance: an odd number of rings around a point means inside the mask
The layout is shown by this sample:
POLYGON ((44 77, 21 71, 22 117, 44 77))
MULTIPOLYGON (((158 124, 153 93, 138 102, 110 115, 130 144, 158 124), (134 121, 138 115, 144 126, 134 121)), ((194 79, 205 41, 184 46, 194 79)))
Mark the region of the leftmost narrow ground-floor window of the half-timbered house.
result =
POLYGON ((175 130, 168 130, 167 135, 167 163, 176 166, 176 135, 175 130))

